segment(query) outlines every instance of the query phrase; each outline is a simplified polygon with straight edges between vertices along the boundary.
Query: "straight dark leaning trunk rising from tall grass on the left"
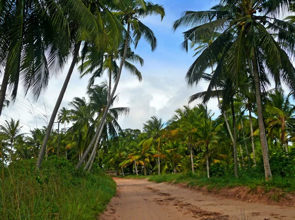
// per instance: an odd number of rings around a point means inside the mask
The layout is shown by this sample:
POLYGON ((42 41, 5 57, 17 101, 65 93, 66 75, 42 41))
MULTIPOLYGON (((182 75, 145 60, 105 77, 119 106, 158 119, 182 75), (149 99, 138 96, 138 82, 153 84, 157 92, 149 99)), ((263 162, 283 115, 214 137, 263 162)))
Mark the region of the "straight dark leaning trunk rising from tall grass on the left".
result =
POLYGON ((41 167, 43 156, 44 156, 44 153, 45 153, 45 150, 46 150, 46 145, 47 145, 48 140, 50 138, 50 133, 51 133, 51 130, 52 130, 52 127, 53 127, 53 123, 55 121, 55 118, 57 117, 60 103, 62 101, 62 98, 63 98, 64 94, 65 94, 65 91, 66 91, 67 85, 68 85, 68 83, 70 81, 70 78, 71 78, 71 75, 73 73, 74 67, 75 67, 75 65, 77 63, 80 46, 81 46, 81 41, 79 41, 75 45, 74 54, 73 54, 73 60, 72 60, 70 69, 69 69, 69 71, 68 71, 68 73, 66 75, 66 78, 64 80, 63 86, 62 86, 61 91, 59 93, 59 98, 58 98, 57 103, 56 103, 56 105, 54 107, 54 110, 52 112, 52 115, 51 115, 51 118, 50 118, 50 121, 49 121, 47 130, 46 130, 46 134, 45 134, 45 137, 44 137, 44 140, 43 140, 43 144, 42 144, 42 147, 41 147, 40 152, 39 152, 39 155, 38 155, 38 160, 37 160, 37 164, 36 164, 36 167, 38 169, 40 169, 40 167, 41 167))

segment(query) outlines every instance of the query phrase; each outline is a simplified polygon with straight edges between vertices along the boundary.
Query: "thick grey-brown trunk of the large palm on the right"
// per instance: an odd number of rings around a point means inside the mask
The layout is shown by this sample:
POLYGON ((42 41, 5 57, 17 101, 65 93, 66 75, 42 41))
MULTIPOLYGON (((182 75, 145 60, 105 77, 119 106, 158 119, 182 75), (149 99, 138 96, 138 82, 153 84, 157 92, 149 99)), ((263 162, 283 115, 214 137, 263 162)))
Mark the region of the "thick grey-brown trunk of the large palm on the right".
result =
POLYGON ((262 112, 262 101, 261 101, 261 92, 260 92, 260 79, 259 79, 259 68, 257 63, 257 57, 255 49, 252 49, 252 65, 253 73, 255 80, 255 95, 256 95, 256 104, 257 104, 257 115, 258 115, 258 124, 259 124, 259 133, 260 133, 260 143, 262 147, 263 163, 265 168, 266 179, 271 178, 271 169, 268 159, 268 147, 266 142, 266 132, 263 121, 263 112, 262 112))

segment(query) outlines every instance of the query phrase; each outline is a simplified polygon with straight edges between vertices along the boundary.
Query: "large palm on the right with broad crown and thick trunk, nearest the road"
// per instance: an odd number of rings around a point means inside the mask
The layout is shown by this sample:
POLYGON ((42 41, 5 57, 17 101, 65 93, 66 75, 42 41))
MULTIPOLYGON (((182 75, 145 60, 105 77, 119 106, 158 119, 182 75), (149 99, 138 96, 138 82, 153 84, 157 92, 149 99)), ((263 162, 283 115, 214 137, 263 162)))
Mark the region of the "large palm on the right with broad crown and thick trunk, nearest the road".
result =
POLYGON ((266 179, 272 174, 263 121, 261 85, 267 79, 266 70, 269 70, 277 84, 282 80, 295 91, 295 69, 288 56, 288 53, 293 55, 295 51, 295 25, 276 18, 280 9, 290 8, 291 3, 289 0, 221 0, 209 11, 185 12, 174 24, 174 29, 192 27, 184 32, 184 36, 193 42, 210 37, 215 32, 221 33, 190 67, 186 75, 189 84, 198 83, 205 70, 215 62, 217 66, 208 93, 222 74, 229 75, 235 85, 238 85, 239 75, 245 74, 245 69, 249 69, 253 75, 266 179))

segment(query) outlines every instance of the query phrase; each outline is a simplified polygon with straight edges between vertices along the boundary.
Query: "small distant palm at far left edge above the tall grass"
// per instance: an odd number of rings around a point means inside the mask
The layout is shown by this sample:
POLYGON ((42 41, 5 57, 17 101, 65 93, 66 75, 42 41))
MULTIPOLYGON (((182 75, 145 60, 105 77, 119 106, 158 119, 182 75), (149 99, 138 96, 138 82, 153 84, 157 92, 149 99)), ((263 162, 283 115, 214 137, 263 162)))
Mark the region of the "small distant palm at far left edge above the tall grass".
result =
POLYGON ((5 120, 3 125, 0 125, 0 135, 2 140, 7 141, 10 147, 9 151, 9 162, 12 162, 13 149, 15 149, 15 141, 17 138, 22 137, 24 134, 21 133, 22 126, 20 121, 11 119, 9 122, 5 120))

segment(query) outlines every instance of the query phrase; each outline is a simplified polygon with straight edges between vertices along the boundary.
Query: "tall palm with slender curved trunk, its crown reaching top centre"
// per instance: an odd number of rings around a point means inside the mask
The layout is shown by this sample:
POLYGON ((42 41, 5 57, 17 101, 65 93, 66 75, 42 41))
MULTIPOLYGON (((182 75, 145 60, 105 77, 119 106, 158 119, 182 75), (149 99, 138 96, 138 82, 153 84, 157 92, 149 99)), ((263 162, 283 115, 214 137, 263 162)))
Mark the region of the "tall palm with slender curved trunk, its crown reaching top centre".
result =
MULTIPOLYGON (((145 24, 143 24, 139 19, 148 17, 150 15, 160 15, 161 19, 165 16, 164 8, 161 5, 153 4, 151 2, 146 2, 145 0, 124 0, 119 1, 118 4, 114 5, 115 15, 121 20, 121 23, 127 26, 126 32, 124 34, 124 49, 123 55, 121 56, 121 61, 118 69, 118 74, 116 76, 115 84, 113 87, 113 91, 110 94, 110 98, 106 105, 104 114, 102 115, 101 121, 97 127, 97 131, 95 136, 93 137, 89 147, 87 147, 86 152, 89 152, 91 147, 94 145, 94 142, 100 139, 102 134, 101 129, 103 124, 105 123, 107 113, 109 107, 111 105, 111 100, 114 98, 118 82, 120 79, 120 75, 125 64, 125 60, 127 57, 128 48, 130 48, 130 43, 134 42, 135 48, 138 45, 141 37, 144 37, 147 42, 150 44, 152 51, 156 49, 157 40, 154 36, 154 33, 151 29, 148 28, 145 24), (133 40, 131 40, 130 32, 133 32, 133 40)), ((83 159, 83 158, 82 158, 83 159)), ((84 158, 85 159, 85 158, 84 158)), ((76 169, 79 169, 82 165, 83 160, 80 160, 76 166, 76 169)))

